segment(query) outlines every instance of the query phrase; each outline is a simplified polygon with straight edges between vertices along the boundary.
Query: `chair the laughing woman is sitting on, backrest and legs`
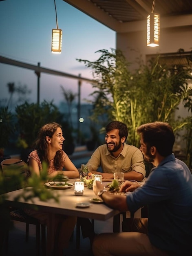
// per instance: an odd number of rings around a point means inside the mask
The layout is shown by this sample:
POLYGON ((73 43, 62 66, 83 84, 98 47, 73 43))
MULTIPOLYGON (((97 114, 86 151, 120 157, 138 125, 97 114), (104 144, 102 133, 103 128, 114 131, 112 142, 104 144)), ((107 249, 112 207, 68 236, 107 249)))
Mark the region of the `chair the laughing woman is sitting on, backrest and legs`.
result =
MULTIPOLYGON (((6 189, 7 191, 5 192, 10 192, 10 191, 20 189, 21 188, 20 181, 25 180, 27 176, 28 168, 26 163, 20 159, 10 158, 10 159, 3 160, 0 165, 1 165, 2 173, 7 180, 6 183, 8 184, 8 188, 6 189), (15 175, 14 177, 18 175, 18 179, 11 178, 13 174, 15 175)), ((45 255, 46 254, 46 249, 45 249, 46 226, 41 225, 36 218, 28 216, 22 209, 9 208, 9 210, 10 210, 10 215, 9 215, 10 220, 26 223, 26 233, 25 233, 26 242, 28 242, 29 240, 29 224, 36 226, 35 227, 36 256, 40 255, 40 227, 42 228, 42 250, 43 250, 43 255, 45 255)), ((6 243, 5 243, 7 251, 8 251, 8 240, 9 240, 9 233, 7 234, 6 243)))

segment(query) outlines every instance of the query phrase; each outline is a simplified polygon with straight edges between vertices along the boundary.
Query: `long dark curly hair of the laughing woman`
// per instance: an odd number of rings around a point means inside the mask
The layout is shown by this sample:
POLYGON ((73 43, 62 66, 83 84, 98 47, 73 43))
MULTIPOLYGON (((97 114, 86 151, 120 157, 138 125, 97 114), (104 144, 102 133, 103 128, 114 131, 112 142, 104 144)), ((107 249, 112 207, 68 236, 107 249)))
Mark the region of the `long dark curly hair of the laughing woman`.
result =
MULTIPOLYGON (((62 128, 62 126, 55 122, 45 124, 44 126, 42 126, 42 128, 40 128, 38 138, 36 140, 36 148, 37 148, 39 158, 41 162, 46 162, 48 166, 49 166, 49 159, 48 159, 49 147, 48 147, 48 142, 46 141, 46 136, 49 136, 50 138, 52 138, 57 128, 62 128)), ((59 170, 63 165, 64 163, 63 163, 62 151, 58 150, 54 158, 54 166, 56 170, 59 170)))

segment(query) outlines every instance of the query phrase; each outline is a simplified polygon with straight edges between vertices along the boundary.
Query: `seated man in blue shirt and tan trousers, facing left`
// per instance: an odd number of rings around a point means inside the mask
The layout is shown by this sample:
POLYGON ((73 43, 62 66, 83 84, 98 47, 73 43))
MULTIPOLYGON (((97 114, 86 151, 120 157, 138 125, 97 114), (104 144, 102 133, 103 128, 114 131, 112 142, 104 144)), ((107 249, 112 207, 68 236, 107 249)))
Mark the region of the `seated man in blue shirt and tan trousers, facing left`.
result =
POLYGON ((140 150, 152 169, 146 182, 124 182, 114 195, 94 182, 93 190, 108 206, 119 211, 137 211, 148 205, 148 218, 129 218, 122 233, 100 234, 93 242, 95 256, 186 256, 192 255, 192 174, 172 154, 173 130, 154 122, 137 129, 140 150), (132 191, 132 192, 130 192, 132 191))

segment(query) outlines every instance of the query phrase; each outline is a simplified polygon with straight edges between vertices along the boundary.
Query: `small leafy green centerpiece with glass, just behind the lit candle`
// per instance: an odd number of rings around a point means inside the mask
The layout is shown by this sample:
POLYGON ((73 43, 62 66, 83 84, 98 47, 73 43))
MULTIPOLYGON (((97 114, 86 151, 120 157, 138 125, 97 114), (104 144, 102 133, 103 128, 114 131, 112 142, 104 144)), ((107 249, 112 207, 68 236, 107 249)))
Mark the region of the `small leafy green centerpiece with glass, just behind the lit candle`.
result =
POLYGON ((81 165, 79 178, 87 185, 88 189, 93 189, 94 173, 91 173, 90 164, 81 165))

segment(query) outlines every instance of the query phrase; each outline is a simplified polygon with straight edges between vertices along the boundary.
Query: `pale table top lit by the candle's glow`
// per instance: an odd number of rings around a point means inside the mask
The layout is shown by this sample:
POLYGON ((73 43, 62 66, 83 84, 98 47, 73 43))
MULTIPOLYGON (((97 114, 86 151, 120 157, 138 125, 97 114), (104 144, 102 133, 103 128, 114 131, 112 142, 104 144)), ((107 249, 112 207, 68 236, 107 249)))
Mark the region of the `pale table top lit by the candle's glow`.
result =
MULTIPOLYGON (((74 183, 75 179, 70 179, 68 182, 74 183)), ((33 198, 33 202, 31 202, 31 200, 25 202, 23 199, 15 202, 14 198, 22 191, 23 189, 20 189, 7 193, 6 204, 18 208, 31 208, 35 206, 38 207, 39 210, 49 213, 60 213, 96 220, 108 220, 119 213, 119 211, 109 208, 104 203, 90 203, 91 205, 89 207, 77 208, 77 203, 90 202, 90 198, 97 197, 93 190, 87 187, 84 188, 84 195, 75 195, 74 186, 70 189, 54 189, 53 192, 60 195, 59 202, 55 202, 54 199, 43 202, 39 198, 33 198)))

